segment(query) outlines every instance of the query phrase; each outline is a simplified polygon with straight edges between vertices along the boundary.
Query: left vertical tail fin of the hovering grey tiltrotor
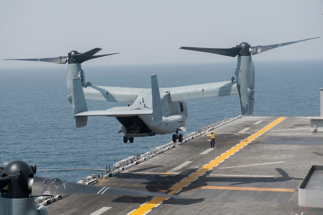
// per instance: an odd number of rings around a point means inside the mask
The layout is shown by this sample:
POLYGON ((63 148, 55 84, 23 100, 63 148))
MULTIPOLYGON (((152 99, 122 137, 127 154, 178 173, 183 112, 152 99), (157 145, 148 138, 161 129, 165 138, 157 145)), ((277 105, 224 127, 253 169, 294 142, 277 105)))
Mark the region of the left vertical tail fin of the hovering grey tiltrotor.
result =
MULTIPOLYGON (((88 111, 80 77, 73 79, 73 88, 74 92, 71 93, 73 115, 84 111, 88 111)), ((78 128, 88 124, 88 116, 74 116, 74 118, 76 127, 78 128)))

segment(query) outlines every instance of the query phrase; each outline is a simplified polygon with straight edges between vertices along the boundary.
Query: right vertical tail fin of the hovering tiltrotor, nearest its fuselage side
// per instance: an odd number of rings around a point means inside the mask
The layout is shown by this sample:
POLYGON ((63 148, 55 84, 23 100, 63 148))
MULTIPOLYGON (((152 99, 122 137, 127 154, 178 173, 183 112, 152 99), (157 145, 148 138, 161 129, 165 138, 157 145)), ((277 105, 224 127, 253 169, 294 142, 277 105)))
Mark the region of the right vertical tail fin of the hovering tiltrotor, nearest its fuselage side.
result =
POLYGON ((155 125, 162 122, 161 95, 157 81, 157 75, 151 76, 151 96, 152 96, 152 119, 155 125))

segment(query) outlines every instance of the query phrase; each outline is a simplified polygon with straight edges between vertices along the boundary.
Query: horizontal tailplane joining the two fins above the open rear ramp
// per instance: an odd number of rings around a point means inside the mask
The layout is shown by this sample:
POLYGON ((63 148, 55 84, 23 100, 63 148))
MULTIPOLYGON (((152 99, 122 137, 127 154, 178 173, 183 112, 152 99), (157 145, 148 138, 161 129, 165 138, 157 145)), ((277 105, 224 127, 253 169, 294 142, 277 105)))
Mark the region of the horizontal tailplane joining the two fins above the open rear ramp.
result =
POLYGON ((143 114, 152 114, 152 109, 129 109, 131 107, 114 107, 105 111, 84 111, 75 114, 75 116, 135 116, 143 114))

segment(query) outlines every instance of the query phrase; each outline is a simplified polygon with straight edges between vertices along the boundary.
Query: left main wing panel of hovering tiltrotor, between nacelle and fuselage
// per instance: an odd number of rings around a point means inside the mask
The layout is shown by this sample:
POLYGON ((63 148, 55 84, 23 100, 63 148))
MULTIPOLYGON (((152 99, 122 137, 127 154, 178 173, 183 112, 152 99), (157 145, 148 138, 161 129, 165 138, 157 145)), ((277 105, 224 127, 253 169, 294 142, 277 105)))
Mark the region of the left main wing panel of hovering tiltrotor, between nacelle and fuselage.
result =
POLYGON ((137 99, 137 95, 145 90, 145 88, 106 87, 92 85, 83 88, 86 100, 129 103, 133 103, 137 99))

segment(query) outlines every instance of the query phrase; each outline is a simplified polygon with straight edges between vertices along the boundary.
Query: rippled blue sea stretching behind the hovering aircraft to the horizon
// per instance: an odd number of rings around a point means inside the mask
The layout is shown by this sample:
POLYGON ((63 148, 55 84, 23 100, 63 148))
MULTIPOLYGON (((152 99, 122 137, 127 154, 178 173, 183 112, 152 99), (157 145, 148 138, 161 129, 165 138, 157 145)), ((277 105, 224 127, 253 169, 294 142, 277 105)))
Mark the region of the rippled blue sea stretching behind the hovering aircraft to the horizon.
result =
MULTIPOLYGON (((99 168, 172 141, 172 134, 137 137, 123 143, 114 117, 89 117, 75 127, 67 100, 67 65, 44 68, 0 69, 0 166, 23 160, 37 169, 99 168)), ((26 62, 28 66, 36 62, 26 62)), ((255 63, 253 116, 319 116, 323 61, 263 61, 255 63)), ((38 65, 39 65, 38 64, 38 65)), ((160 87, 217 81, 234 76, 236 59, 225 63, 87 66, 86 81, 93 85, 151 88, 152 74, 160 87)), ((126 103, 88 101, 89 110, 106 110, 126 103)), ((239 96, 187 101, 187 133, 241 115, 239 96)), ((102 171, 101 171, 102 172, 102 171)), ((100 171, 39 171, 37 176, 77 182, 100 171)))

